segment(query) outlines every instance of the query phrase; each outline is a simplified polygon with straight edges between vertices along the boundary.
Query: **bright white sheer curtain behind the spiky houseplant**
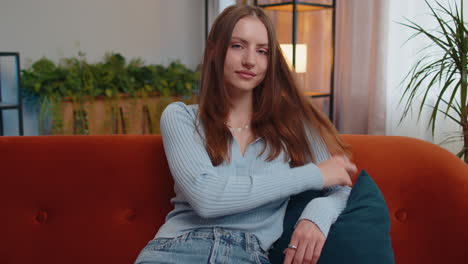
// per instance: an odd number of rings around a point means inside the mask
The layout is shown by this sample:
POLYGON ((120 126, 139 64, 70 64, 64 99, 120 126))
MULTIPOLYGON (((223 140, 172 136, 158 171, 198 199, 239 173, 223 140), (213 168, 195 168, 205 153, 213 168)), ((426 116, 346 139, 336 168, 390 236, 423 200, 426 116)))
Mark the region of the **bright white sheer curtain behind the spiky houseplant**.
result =
MULTIPOLYGON (((440 1, 440 0, 439 0, 440 1)), ((442 0, 441 3, 445 5, 453 0, 442 0)), ((431 4, 435 3, 434 0, 429 0, 431 4)), ((459 4, 460 1, 457 0, 459 4)), ((465 14, 468 4, 465 4, 465 14)), ((446 137, 447 133, 461 131, 461 128, 450 119, 444 119, 443 116, 438 116, 436 122, 436 133, 433 137, 430 129, 427 128, 427 121, 429 120, 430 111, 426 109, 421 115, 419 122, 417 121, 418 108, 413 108, 413 115, 408 116, 405 121, 398 126, 398 122, 403 113, 404 105, 398 106, 398 101, 403 92, 403 86, 400 82, 404 76, 409 72, 412 65, 415 64, 417 58, 416 52, 428 44, 423 38, 413 39, 403 43, 413 33, 408 28, 398 24, 397 22, 404 22, 403 17, 410 19, 423 26, 424 28, 435 28, 437 22, 428 14, 430 10, 423 0, 407 1, 407 0, 389 0, 389 50, 388 50, 388 72, 387 72, 387 117, 386 117, 386 134, 387 135, 402 135, 420 138, 436 144, 439 144, 446 137)), ((466 18, 465 18, 466 20, 466 18)), ((435 52, 436 49, 430 50, 435 52)), ((430 94, 428 104, 435 103, 435 96, 437 91, 430 94)), ((418 97, 420 99, 422 97, 418 97)), ((444 144, 442 147, 448 149, 452 153, 456 153, 461 149, 461 142, 444 144)))

